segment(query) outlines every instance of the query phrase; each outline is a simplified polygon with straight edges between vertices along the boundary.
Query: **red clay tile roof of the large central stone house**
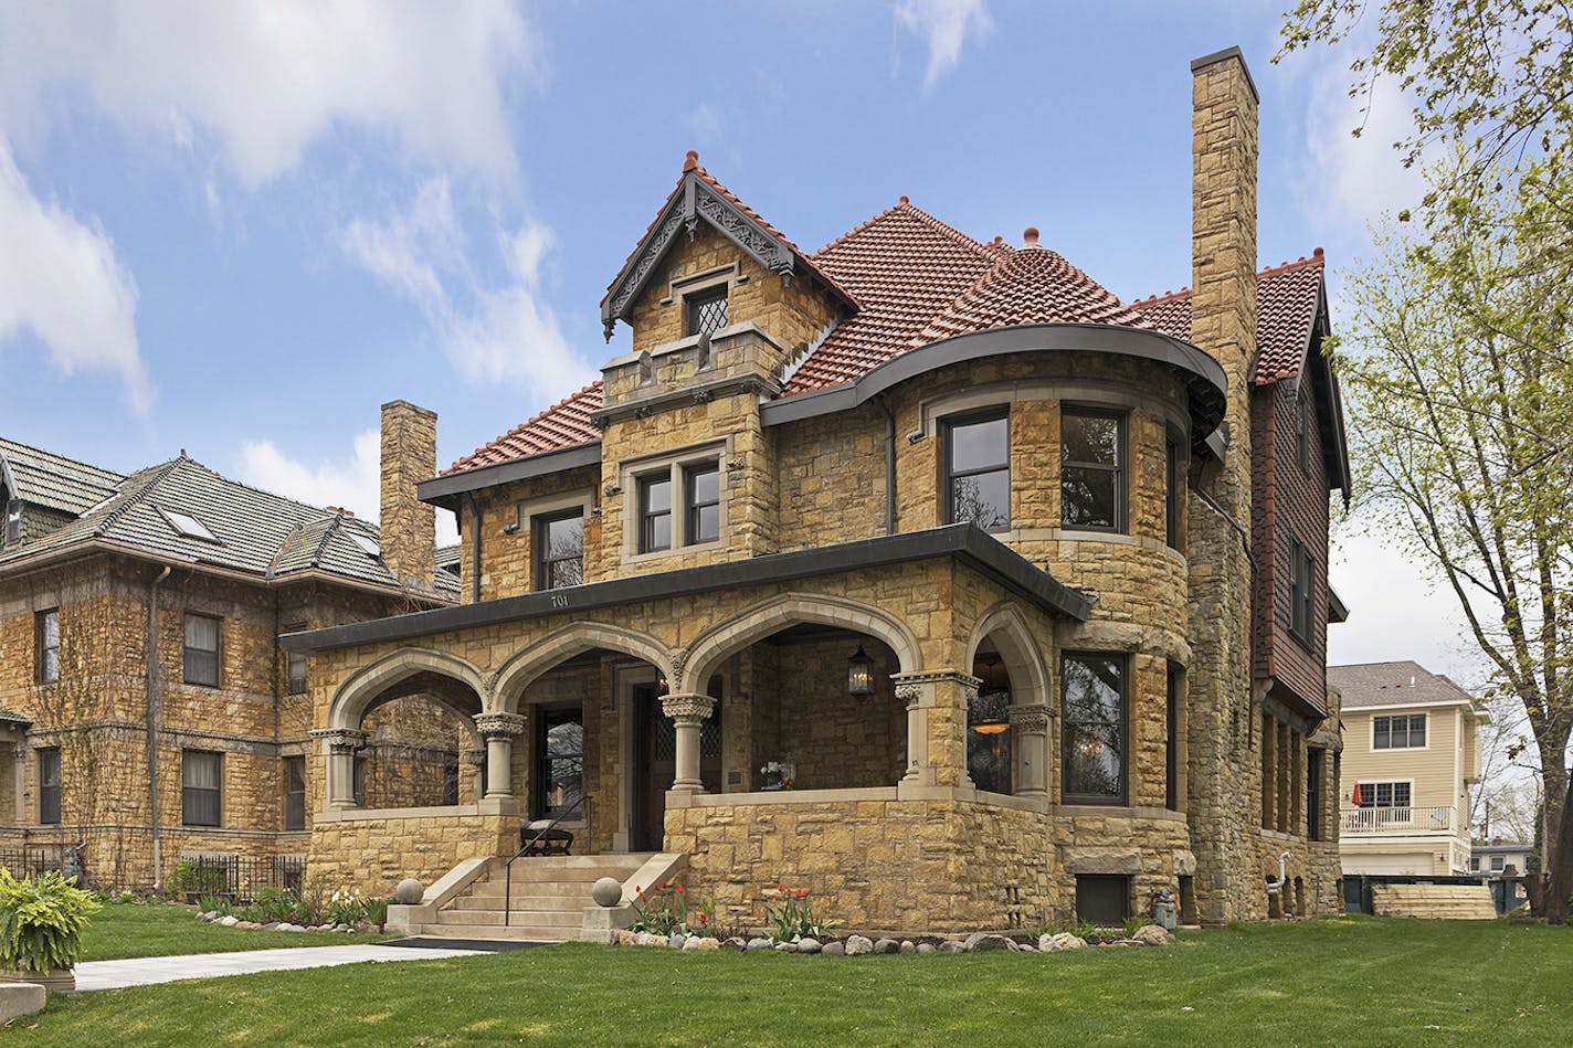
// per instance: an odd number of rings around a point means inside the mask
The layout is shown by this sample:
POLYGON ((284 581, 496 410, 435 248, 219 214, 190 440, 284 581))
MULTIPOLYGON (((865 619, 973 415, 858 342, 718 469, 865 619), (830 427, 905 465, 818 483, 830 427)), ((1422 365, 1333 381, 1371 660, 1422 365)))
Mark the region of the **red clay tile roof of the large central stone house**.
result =
MULTIPOLYGON (((856 304, 807 357, 783 376, 780 397, 851 382, 908 349, 953 335, 1016 324, 1089 323, 1147 327, 1175 338, 1191 337, 1191 293, 1178 291, 1120 302, 1063 256, 1038 245, 1029 228, 1019 249, 980 242, 901 197, 813 255, 725 189, 691 154, 694 172, 728 201, 780 238, 815 275, 856 304)), ((681 186, 681 183, 680 183, 681 186)), ((676 190, 673 190, 676 192, 676 190)), ((670 197, 669 197, 670 203, 670 197)), ((1321 249, 1312 258, 1260 274, 1258 384, 1298 373, 1321 296, 1321 249)), ((601 384, 591 382, 514 426, 444 474, 593 444, 601 439, 591 412, 601 408, 601 384)))

